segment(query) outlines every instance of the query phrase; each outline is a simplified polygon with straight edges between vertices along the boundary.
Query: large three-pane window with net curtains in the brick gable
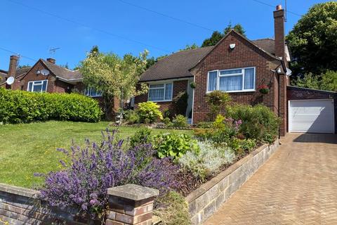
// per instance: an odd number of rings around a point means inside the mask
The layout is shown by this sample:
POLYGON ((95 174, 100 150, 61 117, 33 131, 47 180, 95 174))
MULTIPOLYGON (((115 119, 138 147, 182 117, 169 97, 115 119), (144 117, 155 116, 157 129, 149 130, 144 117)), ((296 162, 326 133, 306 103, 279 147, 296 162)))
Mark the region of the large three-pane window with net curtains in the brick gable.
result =
POLYGON ((215 90, 255 91, 255 68, 210 71, 207 92, 215 90))

